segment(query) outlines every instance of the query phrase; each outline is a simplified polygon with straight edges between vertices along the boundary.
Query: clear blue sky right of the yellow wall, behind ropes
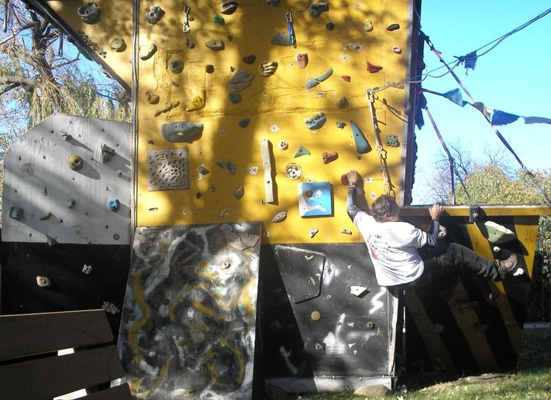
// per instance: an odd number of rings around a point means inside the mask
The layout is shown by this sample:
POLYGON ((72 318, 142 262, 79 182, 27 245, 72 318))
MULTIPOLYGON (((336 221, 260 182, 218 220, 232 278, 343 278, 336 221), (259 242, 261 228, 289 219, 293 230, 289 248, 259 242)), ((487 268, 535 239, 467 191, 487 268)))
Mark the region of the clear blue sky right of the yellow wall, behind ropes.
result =
MULTIPOLYGON (((543 0, 423 0, 422 30, 451 66, 456 61, 454 56, 464 56, 485 46, 548 8, 551 8, 551 1, 543 0)), ((454 72, 475 101, 483 102, 488 108, 523 117, 551 119, 550 32, 551 14, 548 14, 479 57, 475 70, 466 72, 463 66, 459 66, 454 72)), ((424 61, 428 71, 441 67, 427 46, 424 61)), ((446 69, 440 68, 430 74, 439 76, 444 72, 446 69)), ((422 86, 441 93, 459 88, 450 74, 439 79, 428 77, 422 86)), ((459 143, 477 161, 487 160, 485 152, 505 154, 510 166, 520 168, 475 108, 461 108, 433 94, 426 94, 426 99, 428 109, 448 146, 459 143)), ((463 94, 463 99, 469 101, 466 94, 463 94)), ((426 114, 424 117, 425 126, 421 130, 416 129, 419 150, 413 187, 414 204, 427 202, 423 196, 426 191, 423 182, 432 174, 433 160, 441 157, 439 154, 442 153, 426 114)), ((527 168, 551 168, 551 125, 525 124, 523 119, 519 119, 497 128, 527 168)))

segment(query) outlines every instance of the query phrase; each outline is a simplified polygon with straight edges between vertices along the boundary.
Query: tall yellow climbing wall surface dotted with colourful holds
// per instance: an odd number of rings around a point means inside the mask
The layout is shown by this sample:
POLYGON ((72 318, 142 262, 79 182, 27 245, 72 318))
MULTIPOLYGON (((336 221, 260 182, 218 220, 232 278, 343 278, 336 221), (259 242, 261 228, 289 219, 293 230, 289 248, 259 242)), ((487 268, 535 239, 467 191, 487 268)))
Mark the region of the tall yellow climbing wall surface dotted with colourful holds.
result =
MULTIPOLYGON (((97 1, 101 18, 94 24, 83 24, 76 16, 76 8, 86 2, 48 3, 60 14, 65 13, 64 19, 75 30, 82 30, 99 48, 107 49, 105 62, 127 81, 132 71, 127 64, 132 52, 130 1, 97 1), (114 37, 122 37, 127 50, 110 49, 114 37)), ((284 1, 271 6, 267 1, 256 1, 240 3, 233 14, 222 14, 220 2, 158 1, 156 5, 164 14, 160 21, 150 23, 147 17, 153 3, 140 1, 136 43, 141 56, 136 57, 138 226, 260 220, 263 240, 269 243, 360 241, 346 216, 347 188, 340 182, 341 175, 351 169, 359 170, 366 179, 369 201, 389 188, 398 201, 403 198, 408 86, 386 86, 404 81, 409 74, 413 14, 409 3, 330 1, 329 9, 323 10, 324 2, 284 1), (283 42, 287 40, 288 12, 293 20, 296 48, 272 43, 278 39, 281 43, 281 38, 283 42), (312 14, 317 12, 318 17, 314 17, 312 14), (214 21, 216 16, 223 19, 223 24, 214 21), (186 19, 189 32, 184 32, 186 19), (368 29, 370 23, 373 30, 368 29), (388 30, 393 24, 399 28, 388 30), (213 39, 223 42, 223 50, 205 46, 213 39), (156 52, 147 58, 145 53, 151 44, 156 46, 156 52), (400 54, 395 47, 401 50, 400 54), (297 65, 298 53, 307 54, 305 68, 297 65), (178 60, 183 63, 183 70, 172 72, 171 67, 177 66, 178 60), (366 61, 382 69, 369 72, 366 61), (269 77, 262 76, 259 70, 266 62, 271 66, 277 63, 275 73, 269 77), (240 70, 254 77, 249 86, 240 88, 241 100, 232 102, 229 95, 237 91, 229 87, 229 82, 240 70), (331 70, 331 76, 322 80, 331 70), (308 79, 318 79, 320 83, 306 88, 308 79), (375 92, 373 103, 382 151, 377 151, 366 99, 369 88, 385 88, 375 92), (151 103, 155 96, 158 102, 151 103), (194 98, 198 101, 195 106, 194 98), (186 110, 202 106, 203 100, 204 108, 186 110), (305 119, 320 112, 326 122, 320 128, 309 129, 305 119), (245 125, 245 119, 250 122, 242 128, 240 122, 245 125), (351 121, 359 126, 373 150, 363 154, 357 151, 351 121), (202 124, 202 133, 191 143, 167 141, 161 134, 163 124, 174 122, 202 124), (337 122, 346 126, 337 128, 337 122), (397 147, 386 144, 387 134, 397 135, 397 147), (260 147, 264 139, 271 143, 273 202, 267 201, 264 188, 260 147), (287 142, 287 150, 280 150, 280 141, 287 142), (310 154, 295 157, 300 146, 310 154), (324 152, 337 152, 338 158, 324 163, 324 152), (387 168, 382 168, 380 156, 386 159, 387 168), (169 166, 164 164, 173 158, 178 160, 169 166), (217 163, 235 166, 235 172, 232 174, 217 163), (300 167, 298 179, 286 174, 291 163, 300 167), (199 179, 201 166, 209 173, 199 179), (167 186, 161 184, 161 190, 151 190, 153 170, 162 170, 153 179, 156 183, 180 181, 187 188, 165 190, 167 186), (331 184, 333 211, 326 212, 329 215, 300 216, 298 186, 308 182, 331 184), (234 192, 240 187, 243 195, 238 199, 234 192), (278 212, 287 212, 286 219, 272 222, 278 212), (319 230, 313 237, 311 228, 319 230), (342 233, 343 229, 353 233, 342 233)))

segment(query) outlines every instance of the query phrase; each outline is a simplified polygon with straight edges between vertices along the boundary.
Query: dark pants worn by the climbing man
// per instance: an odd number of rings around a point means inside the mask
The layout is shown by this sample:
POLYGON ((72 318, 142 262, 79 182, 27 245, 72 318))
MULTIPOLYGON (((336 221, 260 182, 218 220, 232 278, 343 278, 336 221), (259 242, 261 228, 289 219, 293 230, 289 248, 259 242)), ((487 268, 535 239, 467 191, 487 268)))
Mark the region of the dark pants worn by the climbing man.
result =
POLYGON ((425 286, 428 283, 459 271, 472 272, 494 281, 501 280, 495 261, 480 257, 477 253, 457 243, 442 243, 435 248, 420 248, 425 269, 413 282, 388 286, 388 289, 404 290, 425 286))

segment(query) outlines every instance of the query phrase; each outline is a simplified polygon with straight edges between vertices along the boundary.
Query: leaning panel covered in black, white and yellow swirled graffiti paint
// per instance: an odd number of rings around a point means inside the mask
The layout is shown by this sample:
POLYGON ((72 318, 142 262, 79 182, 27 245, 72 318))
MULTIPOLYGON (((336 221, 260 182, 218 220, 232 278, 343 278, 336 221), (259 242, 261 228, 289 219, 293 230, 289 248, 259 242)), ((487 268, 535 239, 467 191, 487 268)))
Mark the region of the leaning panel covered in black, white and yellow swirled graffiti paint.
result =
POLYGON ((118 349, 134 397, 250 399, 260 223, 138 228, 118 349))

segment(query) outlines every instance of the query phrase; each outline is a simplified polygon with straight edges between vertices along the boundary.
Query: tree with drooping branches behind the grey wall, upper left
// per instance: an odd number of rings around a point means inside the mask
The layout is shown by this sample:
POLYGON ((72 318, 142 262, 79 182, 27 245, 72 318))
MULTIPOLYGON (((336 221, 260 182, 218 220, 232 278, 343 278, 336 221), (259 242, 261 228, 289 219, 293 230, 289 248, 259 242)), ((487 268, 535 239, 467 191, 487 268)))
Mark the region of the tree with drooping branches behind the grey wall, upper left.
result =
POLYGON ((37 11, 1 1, 0 21, 0 172, 10 143, 55 112, 129 120, 129 94, 37 11))

